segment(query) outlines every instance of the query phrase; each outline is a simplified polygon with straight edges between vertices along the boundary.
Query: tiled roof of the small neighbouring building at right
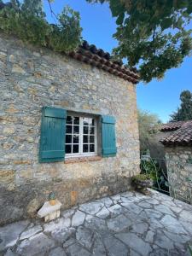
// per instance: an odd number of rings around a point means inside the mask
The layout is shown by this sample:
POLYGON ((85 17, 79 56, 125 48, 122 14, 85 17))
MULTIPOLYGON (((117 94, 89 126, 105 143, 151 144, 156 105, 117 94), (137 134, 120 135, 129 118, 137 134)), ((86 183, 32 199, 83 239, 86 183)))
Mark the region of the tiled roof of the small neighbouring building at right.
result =
MULTIPOLYGON (((166 146, 169 145, 192 145, 192 120, 185 122, 176 122, 178 128, 173 128, 173 130, 164 130, 164 131, 173 131, 171 135, 164 137, 160 140, 160 143, 163 143, 166 146), (182 124, 183 123, 183 124, 182 124), (179 128, 180 125, 180 128, 179 128), (176 131, 174 131, 176 130, 176 131)), ((169 124, 167 124, 169 125, 169 124)), ((176 127, 176 126, 174 126, 176 127)), ((162 130, 161 130, 162 131, 162 130)))

